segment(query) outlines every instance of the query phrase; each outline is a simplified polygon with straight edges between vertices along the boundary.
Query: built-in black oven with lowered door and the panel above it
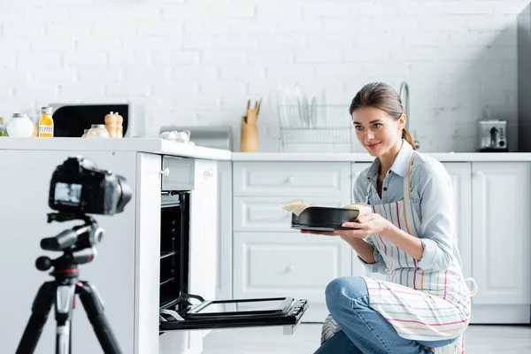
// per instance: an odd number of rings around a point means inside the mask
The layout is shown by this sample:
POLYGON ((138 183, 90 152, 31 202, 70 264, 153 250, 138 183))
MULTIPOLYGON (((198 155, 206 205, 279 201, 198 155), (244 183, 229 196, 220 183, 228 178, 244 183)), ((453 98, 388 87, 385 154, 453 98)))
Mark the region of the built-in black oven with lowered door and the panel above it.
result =
POLYGON ((192 159, 163 162, 163 173, 172 175, 174 180, 163 179, 161 191, 159 333, 281 326, 285 335, 293 334, 309 306, 305 299, 281 296, 214 300, 190 294, 190 240, 194 237, 190 232, 191 204, 195 200, 192 195, 197 175, 194 172, 192 159))

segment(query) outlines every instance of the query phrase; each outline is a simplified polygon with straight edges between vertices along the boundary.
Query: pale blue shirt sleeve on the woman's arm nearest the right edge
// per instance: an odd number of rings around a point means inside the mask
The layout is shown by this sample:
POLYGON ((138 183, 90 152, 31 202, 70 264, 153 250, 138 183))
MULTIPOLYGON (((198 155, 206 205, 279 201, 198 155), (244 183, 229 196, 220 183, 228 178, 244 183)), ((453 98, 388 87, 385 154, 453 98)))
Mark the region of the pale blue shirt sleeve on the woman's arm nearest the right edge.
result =
POLYGON ((427 161, 421 174, 419 238, 424 252, 417 265, 423 270, 443 271, 451 264, 455 238, 451 178, 436 160, 427 161))

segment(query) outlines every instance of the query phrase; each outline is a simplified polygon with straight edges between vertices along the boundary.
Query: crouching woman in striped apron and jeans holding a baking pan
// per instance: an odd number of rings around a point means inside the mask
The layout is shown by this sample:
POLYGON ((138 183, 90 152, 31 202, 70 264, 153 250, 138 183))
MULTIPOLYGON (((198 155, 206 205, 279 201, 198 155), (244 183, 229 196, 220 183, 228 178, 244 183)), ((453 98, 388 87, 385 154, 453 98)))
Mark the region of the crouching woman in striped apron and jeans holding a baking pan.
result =
POLYGON ((470 296, 461 269, 450 175, 415 150, 396 91, 375 82, 350 104, 359 142, 375 157, 356 180, 356 202, 373 207, 331 233, 386 281, 344 277, 327 285, 331 318, 316 354, 449 352, 464 349, 470 296))

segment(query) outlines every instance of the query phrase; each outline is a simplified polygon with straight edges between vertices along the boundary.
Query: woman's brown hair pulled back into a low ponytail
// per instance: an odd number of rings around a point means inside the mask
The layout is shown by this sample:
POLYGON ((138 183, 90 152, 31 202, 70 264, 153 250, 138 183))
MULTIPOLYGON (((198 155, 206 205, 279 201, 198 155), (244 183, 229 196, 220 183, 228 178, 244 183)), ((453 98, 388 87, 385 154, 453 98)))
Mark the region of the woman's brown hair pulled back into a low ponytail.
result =
MULTIPOLYGON (((393 119, 398 120, 404 113, 404 106, 400 100, 400 96, 396 93, 390 85, 384 82, 371 82, 367 83, 361 88, 356 96, 352 99, 350 104, 349 113, 356 111, 361 107, 374 107, 385 111, 393 119)), ((407 119, 407 117, 406 117, 407 119)), ((402 130, 402 139, 409 142, 415 150, 415 142, 413 142, 412 135, 409 134, 404 127, 402 130)))

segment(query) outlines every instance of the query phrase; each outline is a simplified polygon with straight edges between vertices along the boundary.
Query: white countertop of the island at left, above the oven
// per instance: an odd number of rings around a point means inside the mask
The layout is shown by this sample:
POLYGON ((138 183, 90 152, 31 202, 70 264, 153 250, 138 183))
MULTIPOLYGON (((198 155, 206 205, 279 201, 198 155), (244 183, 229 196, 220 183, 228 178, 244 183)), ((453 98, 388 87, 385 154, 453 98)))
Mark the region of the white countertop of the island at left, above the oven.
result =
POLYGON ((231 151, 185 145, 163 139, 13 138, 1 137, 0 150, 139 151, 183 158, 230 160, 231 151))

